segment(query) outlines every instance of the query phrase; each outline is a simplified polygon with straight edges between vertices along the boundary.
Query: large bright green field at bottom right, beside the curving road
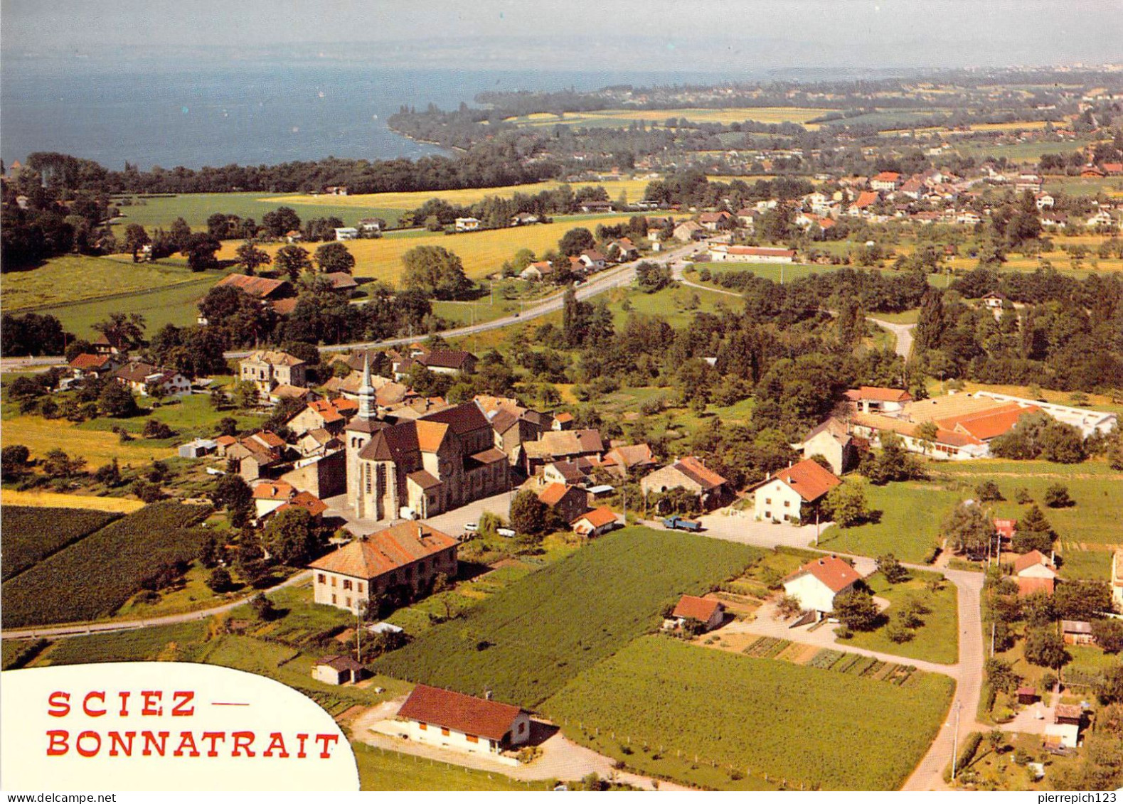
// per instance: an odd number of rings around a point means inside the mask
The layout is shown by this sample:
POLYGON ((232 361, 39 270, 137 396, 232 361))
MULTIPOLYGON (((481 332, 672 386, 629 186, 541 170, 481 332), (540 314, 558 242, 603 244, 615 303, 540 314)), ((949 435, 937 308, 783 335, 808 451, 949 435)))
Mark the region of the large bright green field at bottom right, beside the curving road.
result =
POLYGON ((759 788, 767 774, 787 789, 889 791, 928 749, 953 686, 939 674, 898 687, 643 637, 542 711, 578 742, 688 784, 759 788))

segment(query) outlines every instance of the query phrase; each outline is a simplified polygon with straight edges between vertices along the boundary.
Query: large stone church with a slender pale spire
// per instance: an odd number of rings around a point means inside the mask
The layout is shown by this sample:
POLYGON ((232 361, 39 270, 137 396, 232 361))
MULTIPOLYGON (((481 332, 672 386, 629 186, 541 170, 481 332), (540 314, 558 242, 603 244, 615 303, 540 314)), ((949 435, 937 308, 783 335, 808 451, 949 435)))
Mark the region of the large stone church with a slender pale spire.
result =
POLYGON ((347 501, 359 519, 424 519, 509 490, 510 464, 475 402, 387 424, 368 359, 357 395, 345 436, 347 501))

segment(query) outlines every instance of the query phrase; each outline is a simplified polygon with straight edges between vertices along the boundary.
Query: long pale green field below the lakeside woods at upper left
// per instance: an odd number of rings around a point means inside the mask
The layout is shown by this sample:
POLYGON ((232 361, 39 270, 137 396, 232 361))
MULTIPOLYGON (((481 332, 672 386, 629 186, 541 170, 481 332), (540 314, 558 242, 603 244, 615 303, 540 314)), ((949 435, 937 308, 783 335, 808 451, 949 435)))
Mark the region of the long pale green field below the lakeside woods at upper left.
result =
MULTIPOLYGON (((216 212, 236 214, 241 219, 253 218, 258 223, 266 212, 277 207, 292 207, 291 197, 286 193, 193 193, 173 195, 171 198, 145 198, 130 195, 131 205, 121 207, 122 218, 115 221, 118 237, 122 236, 129 223, 139 223, 148 229, 161 227, 167 229, 176 218, 183 218, 192 229, 206 229, 207 218, 216 212)), ((349 198, 349 197, 347 197, 349 198)), ((314 210, 302 210, 296 207, 301 220, 309 218, 328 218, 335 216, 348 226, 354 226, 359 218, 384 218, 390 226, 396 226, 402 210, 377 204, 346 203, 347 198, 335 195, 317 197, 314 210), (336 203, 337 199, 343 203, 336 203)), ((417 204, 420 207, 421 204, 417 204)))

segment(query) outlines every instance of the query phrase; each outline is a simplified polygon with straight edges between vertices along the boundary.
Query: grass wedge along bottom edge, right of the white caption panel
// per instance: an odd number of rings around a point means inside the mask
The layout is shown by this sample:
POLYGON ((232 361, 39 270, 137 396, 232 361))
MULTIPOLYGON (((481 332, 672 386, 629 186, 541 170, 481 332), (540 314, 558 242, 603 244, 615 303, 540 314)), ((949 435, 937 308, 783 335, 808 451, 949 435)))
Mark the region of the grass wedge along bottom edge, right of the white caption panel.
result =
POLYGON ((515 782, 510 776, 438 762, 351 742, 363 791, 548 791, 545 782, 515 782))

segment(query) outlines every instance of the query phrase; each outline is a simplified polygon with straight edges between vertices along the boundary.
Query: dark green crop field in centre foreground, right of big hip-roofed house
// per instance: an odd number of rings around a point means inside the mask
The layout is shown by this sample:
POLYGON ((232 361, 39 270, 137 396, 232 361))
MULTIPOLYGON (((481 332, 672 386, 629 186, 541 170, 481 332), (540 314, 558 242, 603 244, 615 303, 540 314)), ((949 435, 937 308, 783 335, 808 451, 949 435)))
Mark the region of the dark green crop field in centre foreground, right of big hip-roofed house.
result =
POLYGON ((732 542, 627 528, 436 625, 375 668, 398 678, 535 705, 760 556, 732 542))

